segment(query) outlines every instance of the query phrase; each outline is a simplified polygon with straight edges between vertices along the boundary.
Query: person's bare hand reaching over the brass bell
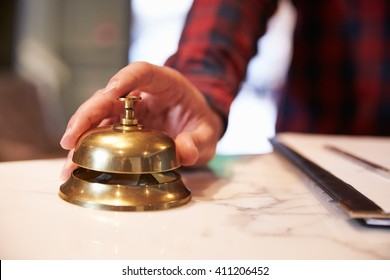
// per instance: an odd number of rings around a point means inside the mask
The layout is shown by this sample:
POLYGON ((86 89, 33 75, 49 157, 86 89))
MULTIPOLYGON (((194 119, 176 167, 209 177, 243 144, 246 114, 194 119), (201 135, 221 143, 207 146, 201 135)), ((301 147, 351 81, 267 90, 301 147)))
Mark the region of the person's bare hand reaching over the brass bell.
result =
POLYGON ((105 89, 84 102, 69 120, 61 146, 70 150, 61 177, 76 168, 73 149, 86 131, 112 124, 123 111, 122 96, 141 96, 136 117, 148 128, 167 132, 176 143, 182 165, 204 165, 215 154, 223 131, 221 117, 182 74, 168 67, 135 62, 115 74, 105 89))

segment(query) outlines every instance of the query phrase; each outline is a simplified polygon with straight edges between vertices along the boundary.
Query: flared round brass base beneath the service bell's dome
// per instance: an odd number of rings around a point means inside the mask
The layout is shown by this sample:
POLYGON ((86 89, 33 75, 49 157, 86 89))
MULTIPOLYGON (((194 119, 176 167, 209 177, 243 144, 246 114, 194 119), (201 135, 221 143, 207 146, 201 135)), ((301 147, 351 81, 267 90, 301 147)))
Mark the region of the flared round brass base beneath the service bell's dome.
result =
POLYGON ((86 208, 113 211, 152 211, 178 207, 191 192, 175 171, 116 174, 76 169, 61 185, 59 196, 86 208))

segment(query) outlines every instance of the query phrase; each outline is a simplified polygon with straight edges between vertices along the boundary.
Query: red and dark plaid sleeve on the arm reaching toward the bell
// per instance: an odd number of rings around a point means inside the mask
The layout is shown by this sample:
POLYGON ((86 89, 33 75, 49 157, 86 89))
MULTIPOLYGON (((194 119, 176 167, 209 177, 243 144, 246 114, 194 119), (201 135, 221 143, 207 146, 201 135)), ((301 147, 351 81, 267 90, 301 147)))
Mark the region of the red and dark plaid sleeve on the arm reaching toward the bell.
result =
POLYGON ((195 0, 178 51, 165 63, 183 73, 225 122, 276 0, 195 0))

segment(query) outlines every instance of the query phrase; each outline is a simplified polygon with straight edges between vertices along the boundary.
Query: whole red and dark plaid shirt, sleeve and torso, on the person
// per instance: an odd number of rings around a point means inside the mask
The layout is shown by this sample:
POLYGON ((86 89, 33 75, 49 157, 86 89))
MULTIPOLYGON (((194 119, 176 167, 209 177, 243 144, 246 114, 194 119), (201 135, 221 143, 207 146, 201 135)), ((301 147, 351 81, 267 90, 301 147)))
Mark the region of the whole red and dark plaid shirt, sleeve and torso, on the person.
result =
MULTIPOLYGON (((297 26, 276 130, 390 135, 390 1, 292 2, 297 26)), ((227 120, 276 7, 276 0, 195 0, 166 65, 227 120)))

